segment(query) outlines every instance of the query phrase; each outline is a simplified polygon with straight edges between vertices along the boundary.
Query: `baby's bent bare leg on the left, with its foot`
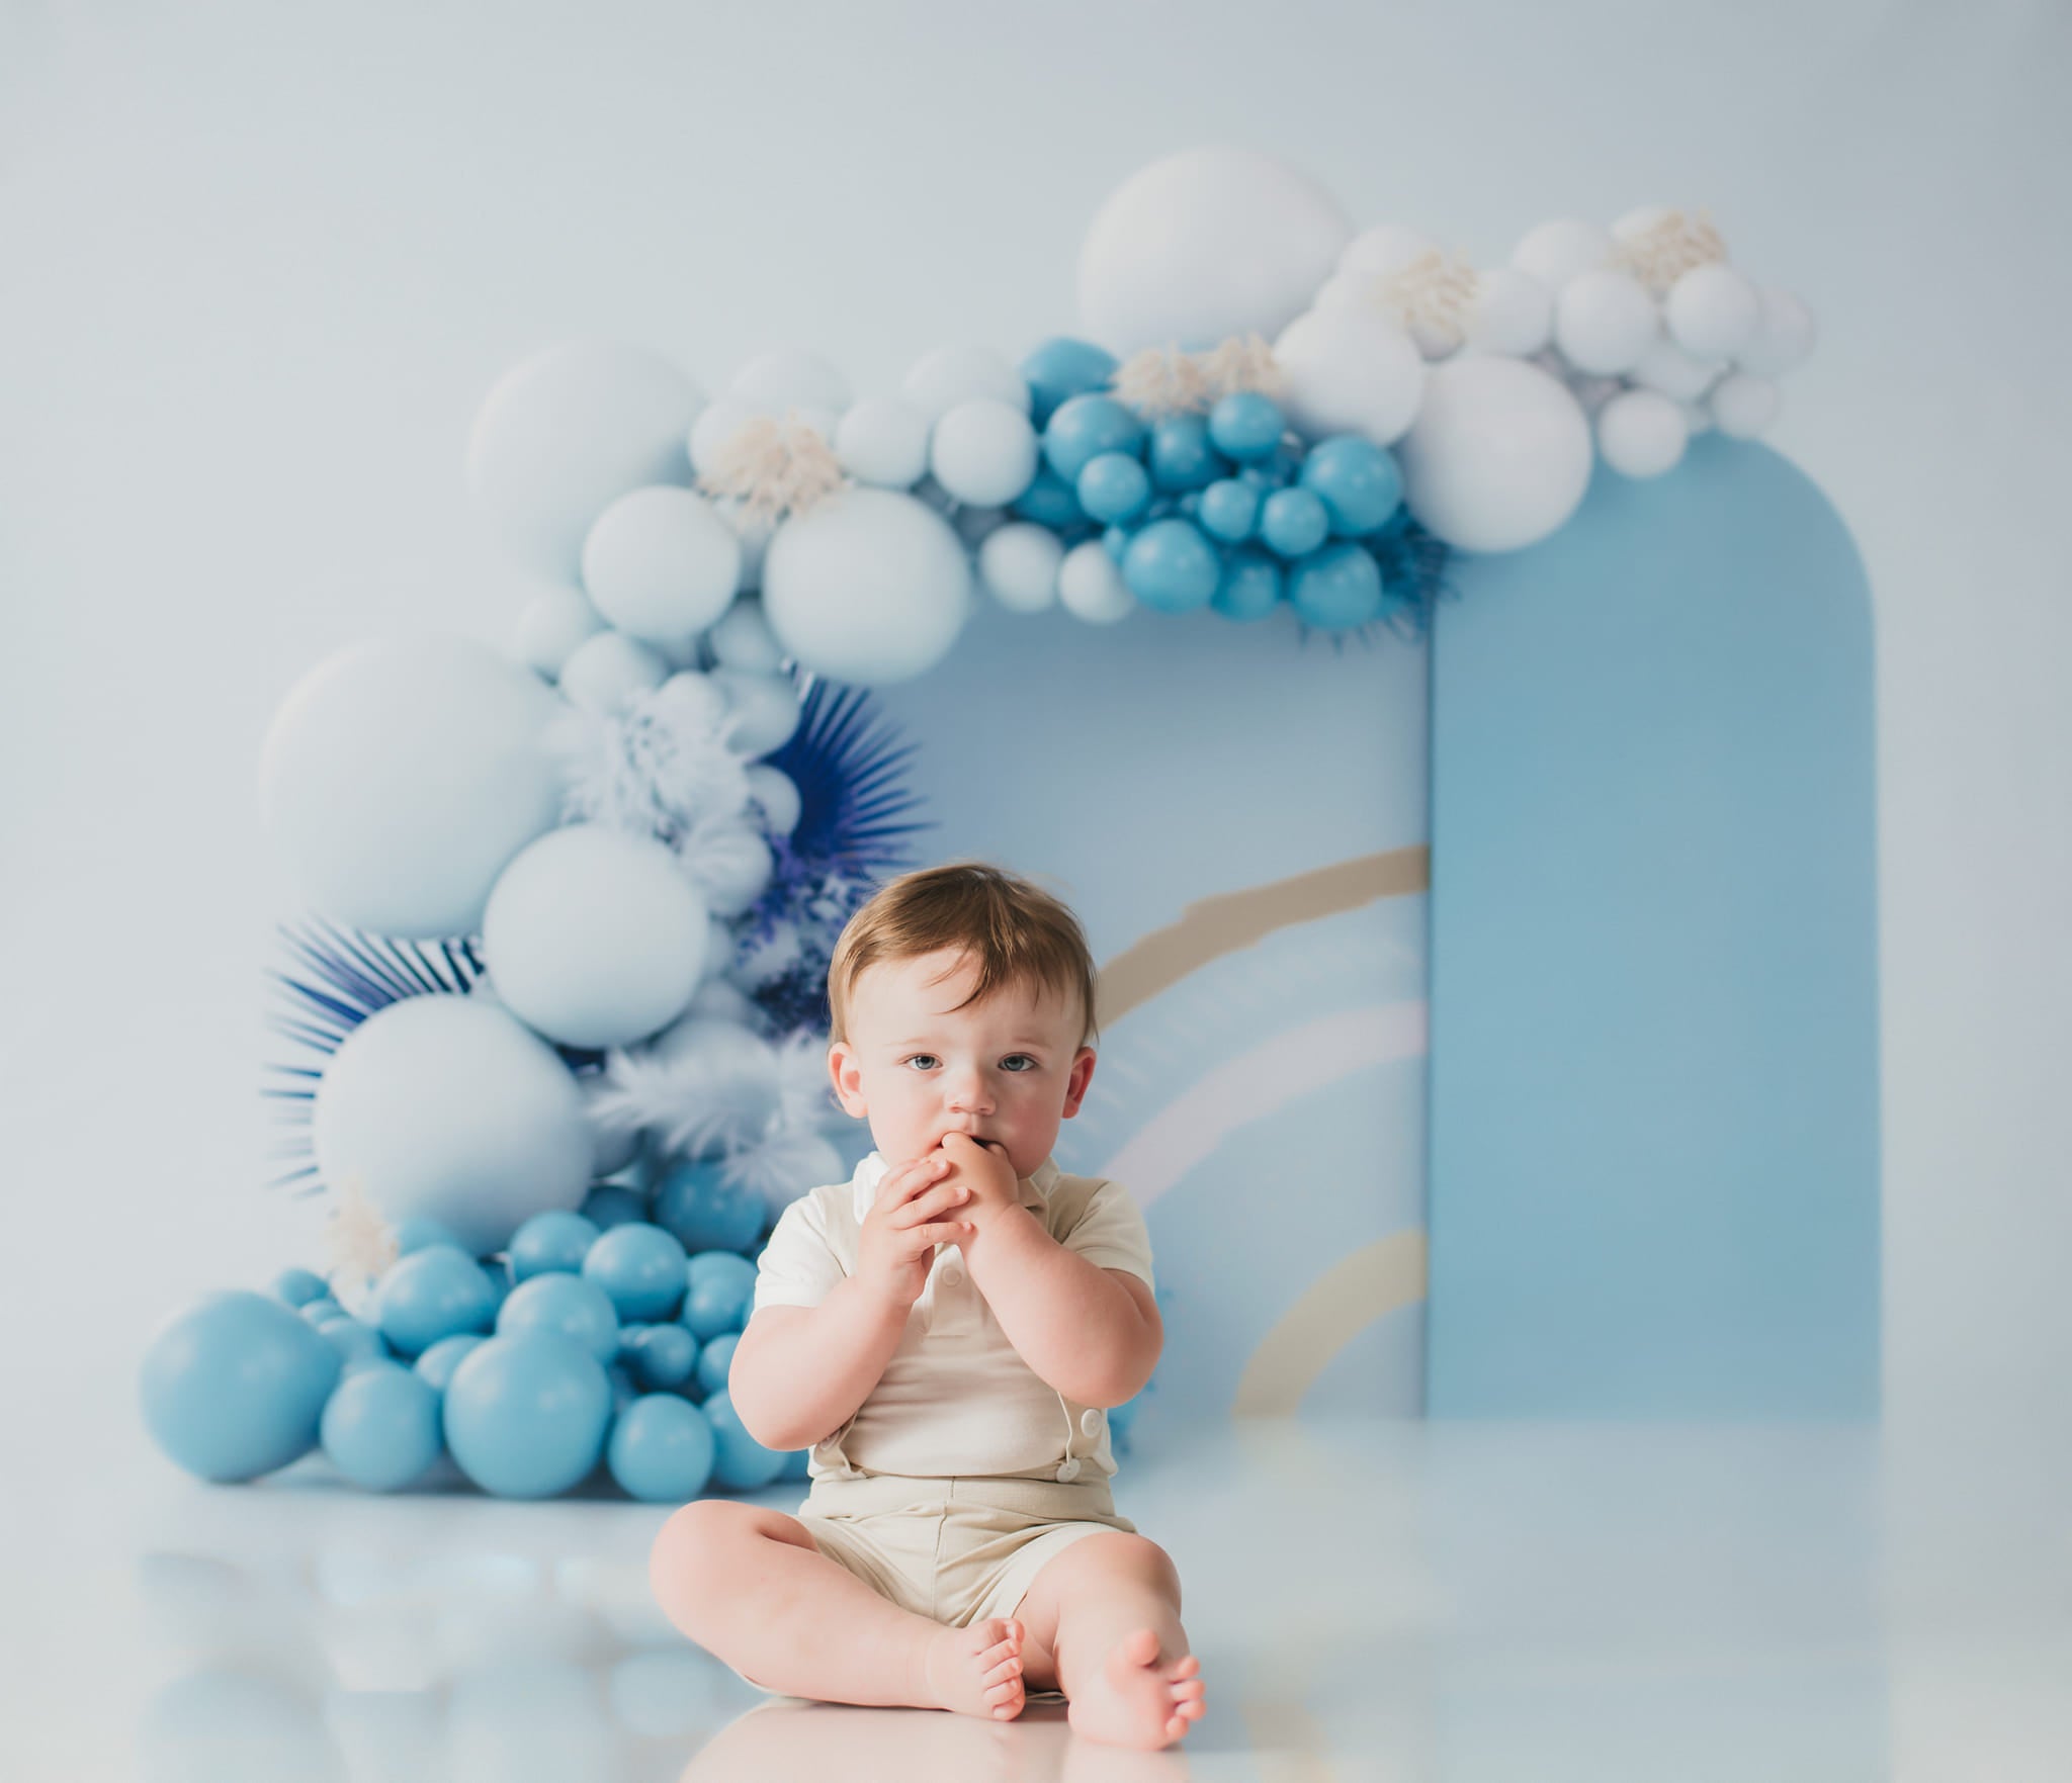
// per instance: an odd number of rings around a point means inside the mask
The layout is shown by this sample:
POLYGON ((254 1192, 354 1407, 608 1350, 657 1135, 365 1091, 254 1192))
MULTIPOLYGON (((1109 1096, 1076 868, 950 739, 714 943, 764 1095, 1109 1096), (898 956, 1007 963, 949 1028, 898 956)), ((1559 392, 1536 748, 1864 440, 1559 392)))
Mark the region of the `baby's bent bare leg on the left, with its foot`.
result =
POLYGON ((752 1684, 868 1706, 1021 1713, 1021 1626, 945 1628, 887 1603, 792 1516, 696 1499, 655 1537, 655 1601, 752 1684))

